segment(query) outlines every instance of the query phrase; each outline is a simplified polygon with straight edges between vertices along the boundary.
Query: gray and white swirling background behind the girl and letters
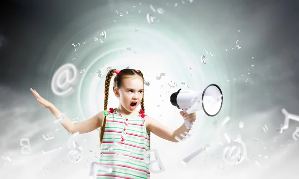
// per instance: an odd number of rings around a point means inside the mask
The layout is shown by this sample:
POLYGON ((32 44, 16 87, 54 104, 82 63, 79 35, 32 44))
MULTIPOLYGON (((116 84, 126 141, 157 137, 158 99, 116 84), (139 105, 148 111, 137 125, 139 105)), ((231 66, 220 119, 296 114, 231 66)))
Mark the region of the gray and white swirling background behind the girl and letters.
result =
MULTIPOLYGON (((77 138, 84 149, 79 163, 65 163, 65 149, 43 155, 42 150, 65 144, 69 136, 53 123, 52 114, 36 102, 29 88, 71 119, 83 121, 103 110, 106 68, 128 66, 141 70, 150 83, 145 87, 146 113, 172 129, 183 122, 169 102, 172 92, 188 87, 198 91, 215 83, 224 93, 217 117, 197 112, 189 140, 171 143, 151 135, 151 149, 158 151, 165 167, 165 172, 151 174, 152 179, 298 178, 298 142, 292 138, 298 123, 291 121, 283 134, 276 131, 284 122, 282 108, 299 114, 296 4, 269 0, 14 0, 7 4, 15 13, 5 16, 0 31, 0 155, 8 155, 11 162, 3 167, 0 159, 1 179, 88 178, 90 163, 99 157, 99 132, 77 138), (152 24, 148 13, 155 17, 152 24), (100 35, 102 30, 106 38, 100 35), (209 59, 205 65, 201 55, 209 59), (66 63, 85 73, 79 74, 72 95, 55 96, 51 79, 66 63), (98 70, 103 77, 98 77, 98 70), (165 76, 156 80, 160 73, 165 76), (170 88, 173 83, 177 87, 170 88), (184 166, 182 159, 210 143, 215 120, 225 116, 230 120, 220 132, 223 145, 184 166), (244 128, 239 128, 239 122, 244 122, 244 128), (248 161, 230 166, 222 160, 225 132, 232 139, 242 136, 248 161), (45 141, 45 133, 54 138, 45 141), (23 137, 30 138, 31 155, 20 153, 23 137)), ((117 105, 111 89, 108 107, 117 105)))

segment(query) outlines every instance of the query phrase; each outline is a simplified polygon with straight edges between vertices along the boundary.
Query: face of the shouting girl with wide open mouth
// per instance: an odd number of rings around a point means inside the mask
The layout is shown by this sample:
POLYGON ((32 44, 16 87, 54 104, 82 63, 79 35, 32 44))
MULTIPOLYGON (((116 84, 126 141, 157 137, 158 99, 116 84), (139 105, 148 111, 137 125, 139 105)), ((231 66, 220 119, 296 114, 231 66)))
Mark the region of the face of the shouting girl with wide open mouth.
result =
POLYGON ((128 112, 133 112, 140 104, 143 92, 144 81, 140 76, 126 78, 120 89, 114 89, 115 95, 128 112))

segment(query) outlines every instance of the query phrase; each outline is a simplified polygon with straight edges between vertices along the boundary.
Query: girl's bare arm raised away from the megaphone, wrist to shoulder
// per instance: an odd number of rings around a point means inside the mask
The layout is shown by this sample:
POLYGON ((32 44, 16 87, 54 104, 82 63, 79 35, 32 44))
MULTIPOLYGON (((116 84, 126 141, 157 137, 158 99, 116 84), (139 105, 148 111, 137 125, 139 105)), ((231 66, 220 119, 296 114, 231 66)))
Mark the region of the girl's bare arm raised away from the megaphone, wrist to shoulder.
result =
MULTIPOLYGON (((51 105, 49 107, 49 110, 56 117, 56 119, 59 119, 59 115, 61 114, 61 112, 57 109, 57 107, 51 105)), ((64 122, 61 123, 61 125, 68 132, 71 132, 72 134, 75 132, 84 134, 84 133, 94 131, 97 128, 101 127, 103 119, 104 119, 104 111, 101 111, 96 115, 94 115, 93 117, 91 117, 90 119, 79 123, 72 123, 72 120, 67 116, 65 116, 64 122)))

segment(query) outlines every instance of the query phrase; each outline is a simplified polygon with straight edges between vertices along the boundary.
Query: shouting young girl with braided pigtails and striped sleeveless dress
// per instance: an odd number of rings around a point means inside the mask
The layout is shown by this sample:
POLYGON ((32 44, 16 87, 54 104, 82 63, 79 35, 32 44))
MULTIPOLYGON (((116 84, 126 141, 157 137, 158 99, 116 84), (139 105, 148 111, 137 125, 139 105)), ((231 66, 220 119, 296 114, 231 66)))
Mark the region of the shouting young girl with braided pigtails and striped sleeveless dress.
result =
MULTIPOLYGON (((35 89, 30 90, 39 104, 48 108, 58 119, 61 112, 35 89)), ((185 120, 196 120, 196 113, 180 111, 180 114, 185 120)), ((112 69, 108 72, 104 111, 80 123, 72 123, 66 117, 61 125, 68 132, 80 134, 101 127, 99 163, 112 168, 112 173, 99 170, 97 177, 101 179, 149 179, 149 163, 144 160, 144 154, 150 150, 150 132, 171 142, 178 142, 175 136, 182 139, 180 134, 189 132, 184 123, 178 129, 171 130, 145 114, 144 77, 141 71, 134 69, 112 69), (113 92, 120 103, 117 108, 109 108, 107 111, 109 86, 114 73, 113 92), (142 109, 137 111, 135 109, 139 104, 142 109)))

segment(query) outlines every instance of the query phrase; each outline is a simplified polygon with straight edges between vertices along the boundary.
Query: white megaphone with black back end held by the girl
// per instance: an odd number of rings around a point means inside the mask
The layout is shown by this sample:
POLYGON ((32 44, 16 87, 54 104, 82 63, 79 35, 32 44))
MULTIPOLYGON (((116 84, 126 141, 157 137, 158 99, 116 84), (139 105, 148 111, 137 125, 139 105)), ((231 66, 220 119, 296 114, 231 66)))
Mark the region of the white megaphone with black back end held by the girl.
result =
MULTIPOLYGON (((223 95, 219 86, 208 85, 202 92, 194 92, 191 89, 179 89, 170 96, 170 102, 188 114, 203 111, 210 117, 219 113, 222 107, 223 95)), ((187 129, 192 129, 193 122, 185 120, 187 129)))

